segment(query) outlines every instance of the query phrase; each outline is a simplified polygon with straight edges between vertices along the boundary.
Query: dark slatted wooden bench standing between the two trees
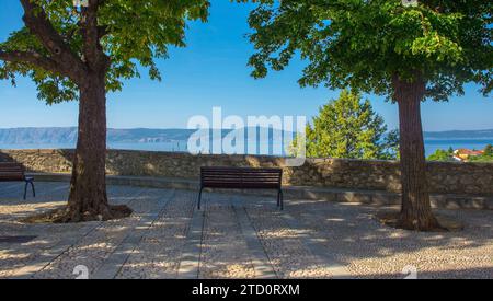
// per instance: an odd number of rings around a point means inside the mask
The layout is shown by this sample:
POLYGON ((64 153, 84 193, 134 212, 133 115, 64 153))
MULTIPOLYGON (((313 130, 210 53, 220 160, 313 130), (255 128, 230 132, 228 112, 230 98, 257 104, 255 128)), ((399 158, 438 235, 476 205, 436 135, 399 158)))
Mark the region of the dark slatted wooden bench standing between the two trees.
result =
POLYGON ((250 167, 202 167, 198 210, 204 188, 275 189, 277 207, 284 209, 283 170, 250 167))

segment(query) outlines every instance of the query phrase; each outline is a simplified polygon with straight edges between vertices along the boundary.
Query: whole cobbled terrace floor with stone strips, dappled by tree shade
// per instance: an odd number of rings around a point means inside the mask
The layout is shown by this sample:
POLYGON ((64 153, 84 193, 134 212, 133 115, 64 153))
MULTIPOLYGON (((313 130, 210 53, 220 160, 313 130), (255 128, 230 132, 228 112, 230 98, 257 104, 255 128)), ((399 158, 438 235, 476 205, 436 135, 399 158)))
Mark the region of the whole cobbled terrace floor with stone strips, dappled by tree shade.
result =
POLYGON ((0 278, 493 278, 493 211, 442 210, 466 222, 459 233, 413 233, 380 225, 381 209, 356 204, 110 186, 113 204, 135 212, 125 220, 22 224, 54 209, 68 184, 0 183, 0 278), (10 236, 10 239, 9 239, 10 236), (12 238, 12 236, 16 236, 12 238), (19 238, 32 236, 32 238, 19 238))

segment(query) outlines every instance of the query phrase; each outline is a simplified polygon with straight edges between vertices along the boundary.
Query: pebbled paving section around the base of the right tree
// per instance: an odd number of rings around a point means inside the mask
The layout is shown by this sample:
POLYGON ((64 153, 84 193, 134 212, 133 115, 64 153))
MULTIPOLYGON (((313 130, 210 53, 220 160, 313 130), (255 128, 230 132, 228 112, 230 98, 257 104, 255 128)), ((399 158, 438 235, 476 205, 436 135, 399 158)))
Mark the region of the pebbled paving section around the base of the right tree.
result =
POLYGON ((372 207, 293 202, 291 213, 357 278, 493 278, 493 211, 439 210, 461 232, 416 233, 382 227, 372 207))

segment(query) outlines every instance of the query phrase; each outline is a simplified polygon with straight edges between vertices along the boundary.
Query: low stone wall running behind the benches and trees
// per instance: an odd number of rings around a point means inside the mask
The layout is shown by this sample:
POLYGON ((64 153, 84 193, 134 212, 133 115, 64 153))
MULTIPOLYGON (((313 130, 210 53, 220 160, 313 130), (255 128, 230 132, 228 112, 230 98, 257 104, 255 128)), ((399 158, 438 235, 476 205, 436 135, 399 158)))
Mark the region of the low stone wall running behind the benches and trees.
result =
MULTIPOLYGON (((1 161, 16 161, 32 172, 69 173, 73 150, 0 150, 1 161)), ((108 175, 198 178, 200 166, 285 166, 285 159, 254 155, 107 152, 108 175)), ((433 194, 493 196, 493 164, 429 162, 433 194)), ((284 184, 351 189, 400 190, 399 163, 345 159, 307 159, 300 167, 284 167, 284 184)))

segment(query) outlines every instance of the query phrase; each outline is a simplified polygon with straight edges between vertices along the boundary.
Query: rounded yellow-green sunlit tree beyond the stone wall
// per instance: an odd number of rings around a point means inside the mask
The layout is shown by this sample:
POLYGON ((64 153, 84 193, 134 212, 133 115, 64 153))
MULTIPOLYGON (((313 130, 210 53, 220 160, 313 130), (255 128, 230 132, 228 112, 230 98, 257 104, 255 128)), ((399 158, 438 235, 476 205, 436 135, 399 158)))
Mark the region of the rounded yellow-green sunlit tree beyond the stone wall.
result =
POLYGON ((351 159, 388 159, 387 126, 369 100, 342 91, 319 109, 307 126, 307 155, 351 159))

